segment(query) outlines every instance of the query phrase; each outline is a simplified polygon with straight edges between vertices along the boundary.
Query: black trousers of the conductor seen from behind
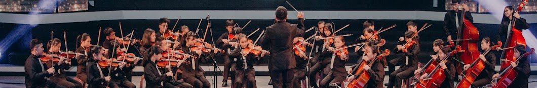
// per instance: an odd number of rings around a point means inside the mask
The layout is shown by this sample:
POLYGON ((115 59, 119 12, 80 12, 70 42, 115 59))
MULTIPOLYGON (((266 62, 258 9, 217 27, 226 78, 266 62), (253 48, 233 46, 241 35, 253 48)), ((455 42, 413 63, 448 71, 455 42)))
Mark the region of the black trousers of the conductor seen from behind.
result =
POLYGON ((293 87, 293 69, 284 69, 284 70, 270 70, 270 77, 272 80, 272 87, 282 88, 282 87, 293 87))

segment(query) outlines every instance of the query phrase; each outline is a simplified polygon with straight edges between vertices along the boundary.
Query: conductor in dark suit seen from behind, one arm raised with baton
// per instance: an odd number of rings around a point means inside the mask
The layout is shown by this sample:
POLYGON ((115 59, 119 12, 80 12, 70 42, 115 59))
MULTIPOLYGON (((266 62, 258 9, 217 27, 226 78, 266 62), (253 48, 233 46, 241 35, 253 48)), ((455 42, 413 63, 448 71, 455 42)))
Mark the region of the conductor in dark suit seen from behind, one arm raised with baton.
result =
POLYGON ((269 71, 271 72, 273 87, 292 87, 293 68, 296 67, 293 52, 293 38, 304 36, 304 13, 299 12, 299 25, 287 22, 287 9, 278 6, 275 11, 273 25, 266 28, 264 36, 260 39, 259 45, 269 46, 273 53, 270 53, 269 71))

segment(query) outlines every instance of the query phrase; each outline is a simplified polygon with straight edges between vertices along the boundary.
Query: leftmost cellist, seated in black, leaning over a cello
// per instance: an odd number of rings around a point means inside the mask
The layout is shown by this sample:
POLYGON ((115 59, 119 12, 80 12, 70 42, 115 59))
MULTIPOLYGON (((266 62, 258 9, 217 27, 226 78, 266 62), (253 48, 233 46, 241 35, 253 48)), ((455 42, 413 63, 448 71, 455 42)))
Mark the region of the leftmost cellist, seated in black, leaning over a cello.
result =
MULTIPOLYGON (((383 82, 384 82, 384 66, 385 65, 381 60, 374 60, 374 62, 372 62, 373 59, 377 58, 378 55, 382 53, 380 51, 380 47, 377 45, 372 45, 371 47, 367 47, 364 50, 366 51, 365 52, 366 54, 364 55, 364 57, 362 57, 362 60, 365 60, 365 62, 367 63, 373 63, 371 66, 366 64, 364 65, 364 68, 358 68, 358 69, 366 70, 367 73, 369 73, 369 77, 371 77, 369 78, 366 86, 364 87, 366 88, 384 87, 383 82)), ((385 59, 385 57, 383 59, 385 59)), ((358 70, 355 70, 355 71, 358 71, 358 70)), ((355 72, 351 72, 351 73, 355 73, 355 72)), ((349 78, 347 78, 347 81, 352 81, 356 79, 357 77, 359 77, 359 75, 351 75, 349 78)))

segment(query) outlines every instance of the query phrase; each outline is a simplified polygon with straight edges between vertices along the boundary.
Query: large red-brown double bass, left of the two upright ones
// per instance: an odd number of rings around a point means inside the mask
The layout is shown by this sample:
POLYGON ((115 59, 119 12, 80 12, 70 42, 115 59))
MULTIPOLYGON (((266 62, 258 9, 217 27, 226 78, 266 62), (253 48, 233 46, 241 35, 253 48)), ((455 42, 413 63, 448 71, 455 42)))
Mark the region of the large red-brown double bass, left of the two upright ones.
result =
MULTIPOLYGON (((462 49, 464 49, 465 52, 459 53, 458 57, 465 65, 467 65, 479 58, 481 52, 478 50, 477 43, 480 43, 481 41, 479 40, 479 31, 469 20, 465 19, 465 14, 466 10, 462 9, 462 20, 459 20, 460 24, 457 31, 457 39, 465 41, 458 41, 455 45, 460 45, 462 49)), ((455 64, 455 68, 461 68, 461 65, 455 64)), ((461 69, 456 70, 457 74, 462 71, 461 69)))

